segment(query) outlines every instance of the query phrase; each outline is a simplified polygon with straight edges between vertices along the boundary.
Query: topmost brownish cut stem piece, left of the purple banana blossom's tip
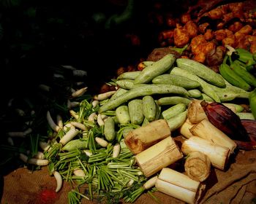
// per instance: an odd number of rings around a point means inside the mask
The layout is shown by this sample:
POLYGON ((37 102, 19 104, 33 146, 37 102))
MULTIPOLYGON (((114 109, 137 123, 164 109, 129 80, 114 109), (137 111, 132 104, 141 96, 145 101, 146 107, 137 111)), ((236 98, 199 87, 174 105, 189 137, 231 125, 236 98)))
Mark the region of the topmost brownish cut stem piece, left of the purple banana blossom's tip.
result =
POLYGON ((191 123, 197 123, 202 119, 207 119, 206 112, 203 110, 200 102, 200 100, 195 99, 189 103, 189 107, 187 109, 187 117, 191 123))

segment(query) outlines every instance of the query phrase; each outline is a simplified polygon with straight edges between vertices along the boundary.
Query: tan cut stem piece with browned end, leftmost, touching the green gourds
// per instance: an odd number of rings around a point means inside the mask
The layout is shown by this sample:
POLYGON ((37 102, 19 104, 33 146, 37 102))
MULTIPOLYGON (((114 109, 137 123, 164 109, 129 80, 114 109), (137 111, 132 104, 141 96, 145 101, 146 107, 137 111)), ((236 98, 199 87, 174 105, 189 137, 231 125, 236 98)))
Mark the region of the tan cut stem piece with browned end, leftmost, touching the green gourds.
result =
POLYGON ((170 127, 166 120, 158 119, 130 131, 125 137, 125 144, 133 154, 138 154, 168 136, 170 127))

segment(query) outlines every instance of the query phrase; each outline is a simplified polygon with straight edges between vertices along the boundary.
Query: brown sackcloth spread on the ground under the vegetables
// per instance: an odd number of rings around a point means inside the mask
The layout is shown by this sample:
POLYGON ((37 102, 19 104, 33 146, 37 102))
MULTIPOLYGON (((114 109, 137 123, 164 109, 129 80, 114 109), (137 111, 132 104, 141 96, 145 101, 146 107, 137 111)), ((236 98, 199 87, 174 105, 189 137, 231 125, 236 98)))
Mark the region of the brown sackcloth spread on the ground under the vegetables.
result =
MULTIPOLYGON (((249 204, 256 203, 256 151, 238 152, 236 161, 226 171, 212 168, 211 176, 206 180, 208 190, 200 204, 249 204)), ((60 192, 56 193, 56 181, 48 174, 47 168, 30 173, 26 168, 18 168, 4 176, 2 204, 57 204, 68 203, 69 183, 64 182, 60 192)), ((181 200, 154 192, 160 203, 183 204, 181 200)), ((83 203, 99 201, 83 199, 83 203)), ((135 204, 157 203, 148 194, 144 194, 135 204)))

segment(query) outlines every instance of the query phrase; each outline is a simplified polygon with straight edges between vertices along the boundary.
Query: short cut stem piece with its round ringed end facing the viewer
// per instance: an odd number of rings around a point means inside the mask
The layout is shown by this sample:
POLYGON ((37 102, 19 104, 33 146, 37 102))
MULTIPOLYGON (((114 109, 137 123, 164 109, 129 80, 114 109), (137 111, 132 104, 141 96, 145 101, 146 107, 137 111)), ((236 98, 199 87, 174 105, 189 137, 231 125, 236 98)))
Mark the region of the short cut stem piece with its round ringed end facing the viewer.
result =
POLYGON ((205 181, 211 173, 211 161, 202 152, 190 152, 184 164, 186 175, 195 181, 205 181))

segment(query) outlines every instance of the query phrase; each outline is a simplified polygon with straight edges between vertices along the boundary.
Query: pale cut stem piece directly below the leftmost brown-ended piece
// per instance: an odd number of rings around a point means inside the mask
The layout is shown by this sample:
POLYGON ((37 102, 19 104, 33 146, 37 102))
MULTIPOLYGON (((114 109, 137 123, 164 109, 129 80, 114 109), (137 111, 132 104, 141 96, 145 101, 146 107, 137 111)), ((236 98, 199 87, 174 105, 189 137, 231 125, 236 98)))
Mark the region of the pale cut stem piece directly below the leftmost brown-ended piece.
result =
POLYGON ((137 154, 135 160, 144 175, 149 177, 182 157, 182 152, 178 149, 173 138, 169 136, 137 154))

